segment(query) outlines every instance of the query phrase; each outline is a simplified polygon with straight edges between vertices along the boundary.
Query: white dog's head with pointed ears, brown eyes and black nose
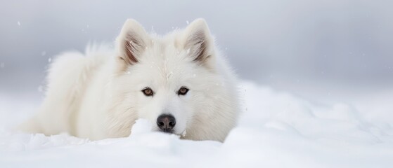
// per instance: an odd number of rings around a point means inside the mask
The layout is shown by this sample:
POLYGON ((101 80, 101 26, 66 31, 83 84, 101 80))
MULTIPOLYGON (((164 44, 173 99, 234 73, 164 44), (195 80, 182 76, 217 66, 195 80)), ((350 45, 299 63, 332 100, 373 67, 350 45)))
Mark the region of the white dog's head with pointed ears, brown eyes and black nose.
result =
POLYGON ((198 120, 209 118, 222 105, 215 100, 225 96, 214 52, 205 20, 165 36, 148 34, 138 22, 127 20, 117 37, 117 75, 112 81, 123 98, 117 102, 122 113, 136 112, 136 118, 154 123, 155 130, 174 134, 192 125, 207 127, 198 120))

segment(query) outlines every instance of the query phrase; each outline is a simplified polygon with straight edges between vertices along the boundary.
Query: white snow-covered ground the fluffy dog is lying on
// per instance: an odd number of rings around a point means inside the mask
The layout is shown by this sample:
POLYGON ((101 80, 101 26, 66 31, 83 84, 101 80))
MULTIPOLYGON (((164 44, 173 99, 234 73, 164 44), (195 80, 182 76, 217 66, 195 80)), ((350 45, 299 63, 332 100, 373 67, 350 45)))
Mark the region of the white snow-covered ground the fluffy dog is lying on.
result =
MULTIPOLYGON (((151 132, 146 120, 137 120, 130 137, 101 141, 67 134, 45 137, 11 132, 9 124, 20 122, 23 117, 7 110, 11 107, 9 104, 18 102, 0 97, 0 102, 8 104, 0 103, 0 122, 3 123, 0 125, 0 167, 393 165, 393 128, 392 123, 386 122, 392 120, 391 113, 371 115, 372 111, 368 111, 368 115, 364 115, 363 109, 352 104, 330 106, 309 102, 248 82, 241 84, 240 91, 244 98, 243 113, 238 127, 224 143, 181 140, 175 135, 151 132)), ((385 102, 388 105, 388 101, 385 102)), ((378 108, 383 109, 383 106, 378 108)), ((372 107, 364 106, 364 109, 372 107)), ((18 110, 32 111, 22 106, 18 110)))

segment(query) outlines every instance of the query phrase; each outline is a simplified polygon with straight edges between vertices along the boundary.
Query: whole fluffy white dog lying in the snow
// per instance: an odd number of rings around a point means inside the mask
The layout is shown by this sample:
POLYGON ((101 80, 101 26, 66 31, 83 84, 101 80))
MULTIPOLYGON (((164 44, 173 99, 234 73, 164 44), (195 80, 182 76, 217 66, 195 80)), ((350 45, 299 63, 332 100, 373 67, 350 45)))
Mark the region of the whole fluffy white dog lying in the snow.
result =
POLYGON ((127 137, 138 118, 183 139, 224 141, 238 118, 236 77, 204 20, 166 36, 127 20, 116 52, 59 55, 44 103, 21 130, 127 137))

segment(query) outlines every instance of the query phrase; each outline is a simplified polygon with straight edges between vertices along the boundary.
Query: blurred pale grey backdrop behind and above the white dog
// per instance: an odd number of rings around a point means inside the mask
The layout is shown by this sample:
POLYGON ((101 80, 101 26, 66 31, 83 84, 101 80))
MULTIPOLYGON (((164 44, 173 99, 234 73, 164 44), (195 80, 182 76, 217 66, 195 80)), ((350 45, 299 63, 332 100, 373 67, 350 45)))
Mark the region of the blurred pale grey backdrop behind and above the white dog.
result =
POLYGON ((392 6, 355 0, 1 1, 0 94, 41 94, 49 59, 84 51, 89 42, 114 41, 127 18, 157 34, 205 18, 240 78, 261 85, 321 94, 343 85, 391 88, 392 6))

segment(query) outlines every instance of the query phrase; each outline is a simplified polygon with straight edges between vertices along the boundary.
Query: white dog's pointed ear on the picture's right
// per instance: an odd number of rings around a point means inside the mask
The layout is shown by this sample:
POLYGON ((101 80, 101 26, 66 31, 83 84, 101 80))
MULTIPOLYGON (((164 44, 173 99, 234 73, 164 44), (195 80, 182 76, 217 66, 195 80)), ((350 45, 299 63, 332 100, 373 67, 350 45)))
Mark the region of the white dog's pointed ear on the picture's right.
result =
POLYGON ((214 40, 209 27, 203 19, 197 19, 186 27, 183 35, 183 48, 195 62, 208 63, 214 55, 214 40))

